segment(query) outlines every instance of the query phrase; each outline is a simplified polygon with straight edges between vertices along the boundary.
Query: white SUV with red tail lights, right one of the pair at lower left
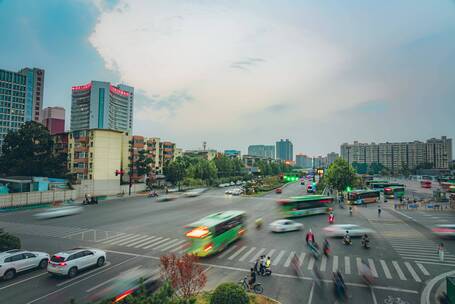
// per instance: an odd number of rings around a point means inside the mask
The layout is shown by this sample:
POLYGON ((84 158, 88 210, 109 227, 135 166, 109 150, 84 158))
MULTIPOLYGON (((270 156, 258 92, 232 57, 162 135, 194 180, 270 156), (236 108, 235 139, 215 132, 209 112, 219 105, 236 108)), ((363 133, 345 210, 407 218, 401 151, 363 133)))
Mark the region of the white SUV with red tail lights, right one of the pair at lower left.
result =
POLYGON ((47 272, 73 278, 79 271, 91 266, 101 267, 105 262, 106 252, 103 250, 76 248, 54 254, 47 266, 47 272))

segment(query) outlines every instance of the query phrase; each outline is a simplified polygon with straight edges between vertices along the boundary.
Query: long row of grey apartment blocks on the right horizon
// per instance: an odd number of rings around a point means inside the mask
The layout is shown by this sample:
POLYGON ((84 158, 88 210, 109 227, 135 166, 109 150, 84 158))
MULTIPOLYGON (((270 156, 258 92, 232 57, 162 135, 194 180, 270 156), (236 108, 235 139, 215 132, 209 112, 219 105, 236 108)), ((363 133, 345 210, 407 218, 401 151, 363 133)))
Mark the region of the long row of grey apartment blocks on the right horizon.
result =
POLYGON ((414 169, 419 165, 428 164, 434 169, 447 169, 452 160, 452 139, 442 136, 432 138, 425 143, 420 141, 366 144, 355 141, 344 143, 340 147, 341 157, 350 164, 380 163, 392 172, 403 167, 414 169))

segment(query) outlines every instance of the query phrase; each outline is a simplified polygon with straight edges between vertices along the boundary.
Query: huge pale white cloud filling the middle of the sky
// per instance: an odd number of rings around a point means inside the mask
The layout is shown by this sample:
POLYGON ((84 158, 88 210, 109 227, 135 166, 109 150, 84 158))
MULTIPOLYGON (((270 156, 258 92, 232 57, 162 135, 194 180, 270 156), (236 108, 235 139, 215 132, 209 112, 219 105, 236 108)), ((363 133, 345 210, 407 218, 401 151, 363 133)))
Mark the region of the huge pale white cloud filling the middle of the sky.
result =
MULTIPOLYGON (((183 144, 198 134, 246 145, 253 134, 245 130, 261 130, 255 140, 273 142, 301 136, 296 125, 313 127, 346 109, 378 110, 365 100, 393 100, 393 106, 409 99, 402 84, 413 76, 397 65, 405 55, 396 48, 446 22, 423 24, 429 7, 411 14, 406 4, 390 10, 388 4, 334 9, 281 1, 120 0, 106 8, 93 1, 101 14, 90 43, 106 68, 145 96, 136 105, 135 130, 153 135, 160 130, 147 126, 158 121, 183 144), (409 19, 402 27, 404 12, 409 19)), ((412 94, 417 91, 418 85, 412 94)))

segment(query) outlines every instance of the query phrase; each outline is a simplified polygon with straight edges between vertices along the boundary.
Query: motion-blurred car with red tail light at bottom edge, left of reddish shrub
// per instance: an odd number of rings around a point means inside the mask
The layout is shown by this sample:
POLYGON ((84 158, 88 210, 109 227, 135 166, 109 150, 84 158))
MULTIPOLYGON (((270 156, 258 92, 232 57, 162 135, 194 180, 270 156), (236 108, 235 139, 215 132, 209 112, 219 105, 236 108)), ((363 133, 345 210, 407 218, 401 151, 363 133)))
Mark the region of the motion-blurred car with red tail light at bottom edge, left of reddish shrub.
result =
POLYGON ((159 270, 143 269, 137 266, 111 278, 105 288, 90 297, 90 301, 112 299, 112 303, 123 303, 122 301, 127 296, 139 293, 141 287, 147 294, 152 294, 161 285, 159 270))

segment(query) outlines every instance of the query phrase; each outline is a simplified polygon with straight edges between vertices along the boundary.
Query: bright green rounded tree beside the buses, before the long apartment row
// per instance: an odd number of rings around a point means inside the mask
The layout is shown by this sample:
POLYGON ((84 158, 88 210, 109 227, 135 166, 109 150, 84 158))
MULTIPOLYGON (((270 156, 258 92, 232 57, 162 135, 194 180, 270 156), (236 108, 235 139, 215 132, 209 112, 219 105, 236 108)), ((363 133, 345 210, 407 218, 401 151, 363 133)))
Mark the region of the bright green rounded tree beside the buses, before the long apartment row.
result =
POLYGON ((329 166, 324 178, 327 185, 338 191, 355 186, 357 182, 354 168, 342 158, 337 158, 329 166))

